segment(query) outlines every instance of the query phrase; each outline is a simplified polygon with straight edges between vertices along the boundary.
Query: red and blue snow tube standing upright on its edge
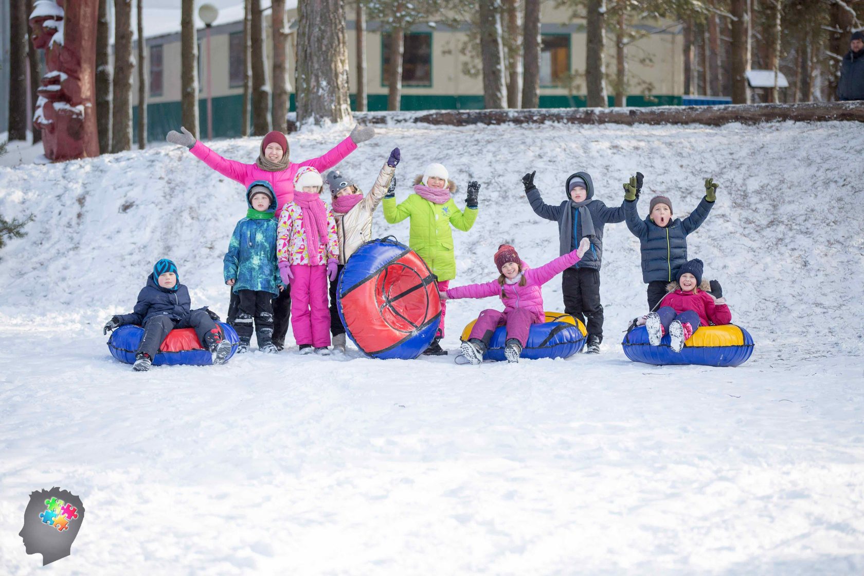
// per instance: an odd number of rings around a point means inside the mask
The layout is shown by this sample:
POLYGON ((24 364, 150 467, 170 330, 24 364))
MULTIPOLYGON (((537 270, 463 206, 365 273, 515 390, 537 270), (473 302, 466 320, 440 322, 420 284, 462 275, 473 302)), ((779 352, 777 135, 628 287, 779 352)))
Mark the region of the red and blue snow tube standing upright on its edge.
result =
POLYGON ((441 323, 435 274, 391 237, 366 242, 348 259, 336 285, 336 307, 357 348, 384 360, 421 355, 441 323))

